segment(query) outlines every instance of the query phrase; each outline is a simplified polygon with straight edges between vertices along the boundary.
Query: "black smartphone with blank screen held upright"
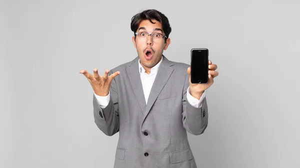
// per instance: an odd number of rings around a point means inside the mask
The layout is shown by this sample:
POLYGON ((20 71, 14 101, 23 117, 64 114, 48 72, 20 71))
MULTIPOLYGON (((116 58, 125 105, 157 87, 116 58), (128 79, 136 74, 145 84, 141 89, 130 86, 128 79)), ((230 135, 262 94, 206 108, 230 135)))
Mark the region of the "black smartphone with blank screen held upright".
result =
POLYGON ((208 49, 192 48, 190 50, 191 83, 208 82, 208 49))

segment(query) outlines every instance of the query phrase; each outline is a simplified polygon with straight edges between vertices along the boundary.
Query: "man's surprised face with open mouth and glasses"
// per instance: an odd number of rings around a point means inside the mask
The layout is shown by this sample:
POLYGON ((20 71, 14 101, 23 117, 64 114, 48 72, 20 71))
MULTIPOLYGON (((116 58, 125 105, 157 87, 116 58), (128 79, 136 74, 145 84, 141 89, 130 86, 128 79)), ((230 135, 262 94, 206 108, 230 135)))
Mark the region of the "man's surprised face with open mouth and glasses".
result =
MULTIPOLYGON (((136 32, 144 31, 149 34, 153 32, 164 34, 162 31, 162 24, 157 20, 152 21, 154 24, 149 20, 142 20, 136 32)), ((132 42, 136 48, 140 64, 145 68, 146 71, 150 70, 150 68, 155 66, 160 61, 163 50, 167 49, 170 39, 168 38, 166 42, 164 42, 164 38, 161 37, 161 39, 158 41, 153 42, 152 37, 149 35, 148 38, 142 42, 139 41, 137 37, 135 39, 134 36, 132 37, 132 42)))

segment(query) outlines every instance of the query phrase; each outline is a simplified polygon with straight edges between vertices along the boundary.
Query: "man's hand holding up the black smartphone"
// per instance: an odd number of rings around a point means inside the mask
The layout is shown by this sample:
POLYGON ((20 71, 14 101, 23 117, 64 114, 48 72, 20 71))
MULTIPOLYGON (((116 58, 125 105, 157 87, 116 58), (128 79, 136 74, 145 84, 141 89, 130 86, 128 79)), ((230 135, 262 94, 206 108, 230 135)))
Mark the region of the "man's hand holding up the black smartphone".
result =
POLYGON ((208 89, 213 84, 213 78, 218 75, 218 71, 215 71, 217 66, 208 61, 208 82, 205 84, 194 84, 190 82, 190 67, 187 68, 187 74, 189 75, 189 90, 190 95, 196 99, 200 99, 204 90, 208 89))

